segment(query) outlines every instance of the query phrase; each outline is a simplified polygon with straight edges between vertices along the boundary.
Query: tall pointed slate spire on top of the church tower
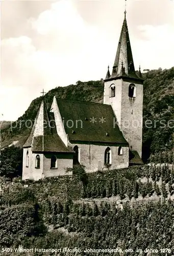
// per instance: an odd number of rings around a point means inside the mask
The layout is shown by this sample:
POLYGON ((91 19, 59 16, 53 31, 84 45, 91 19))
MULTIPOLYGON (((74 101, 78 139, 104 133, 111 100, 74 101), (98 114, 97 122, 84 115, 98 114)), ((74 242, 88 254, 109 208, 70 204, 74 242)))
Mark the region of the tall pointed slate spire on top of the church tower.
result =
MULTIPOLYGON (((126 2, 125 2, 126 4, 126 2)), ((132 56, 127 20, 126 20, 126 9, 125 9, 125 18, 123 20, 123 25, 119 37, 117 53, 114 61, 114 65, 116 65, 116 72, 112 72, 111 77, 117 77, 121 75, 122 66, 121 61, 123 61, 125 67, 125 74, 128 76, 136 76, 135 68, 134 68, 134 61, 132 56)))

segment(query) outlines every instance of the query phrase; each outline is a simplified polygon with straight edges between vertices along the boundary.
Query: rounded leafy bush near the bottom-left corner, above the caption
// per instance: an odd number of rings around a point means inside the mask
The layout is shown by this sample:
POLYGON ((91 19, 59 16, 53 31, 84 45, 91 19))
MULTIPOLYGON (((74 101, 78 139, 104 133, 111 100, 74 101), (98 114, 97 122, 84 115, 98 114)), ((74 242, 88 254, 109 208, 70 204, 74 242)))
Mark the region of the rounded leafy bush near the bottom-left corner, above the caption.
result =
POLYGON ((24 237, 38 236, 45 232, 35 205, 20 204, 1 211, 0 244, 11 246, 24 237))

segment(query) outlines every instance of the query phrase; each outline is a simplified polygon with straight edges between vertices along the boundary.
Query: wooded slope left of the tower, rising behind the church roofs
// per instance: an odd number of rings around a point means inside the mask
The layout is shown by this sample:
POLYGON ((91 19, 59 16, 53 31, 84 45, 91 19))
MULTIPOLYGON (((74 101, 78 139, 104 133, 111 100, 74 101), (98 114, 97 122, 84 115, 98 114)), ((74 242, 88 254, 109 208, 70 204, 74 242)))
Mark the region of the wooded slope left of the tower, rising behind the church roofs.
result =
MULTIPOLYGON (((45 95, 45 102, 47 109, 51 108, 53 97, 66 98, 71 100, 81 101, 92 101, 92 102, 103 102, 103 91, 104 83, 101 81, 78 81, 76 85, 71 84, 67 87, 57 87, 49 91, 45 95)), ((42 97, 38 97, 32 101, 28 110, 17 119, 16 122, 12 123, 7 129, 3 130, 2 133, 2 146, 9 145, 13 141, 19 141, 16 146, 22 146, 26 142, 31 128, 31 122, 34 123, 37 111, 40 106, 42 97), (27 121, 30 120, 30 121, 27 121)))

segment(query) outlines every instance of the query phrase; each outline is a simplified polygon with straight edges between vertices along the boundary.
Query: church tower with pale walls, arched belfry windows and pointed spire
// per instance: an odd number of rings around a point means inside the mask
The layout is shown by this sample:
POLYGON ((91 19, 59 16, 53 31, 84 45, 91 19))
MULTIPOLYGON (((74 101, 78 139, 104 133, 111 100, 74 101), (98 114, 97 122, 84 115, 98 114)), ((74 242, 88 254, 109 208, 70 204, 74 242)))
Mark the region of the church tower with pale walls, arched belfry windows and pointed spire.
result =
MULTIPOLYGON (((105 78, 104 104, 110 104, 130 150, 142 153, 143 78, 136 74, 126 11, 112 73, 105 78)), ((114 125, 114 123, 113 123, 114 125)))

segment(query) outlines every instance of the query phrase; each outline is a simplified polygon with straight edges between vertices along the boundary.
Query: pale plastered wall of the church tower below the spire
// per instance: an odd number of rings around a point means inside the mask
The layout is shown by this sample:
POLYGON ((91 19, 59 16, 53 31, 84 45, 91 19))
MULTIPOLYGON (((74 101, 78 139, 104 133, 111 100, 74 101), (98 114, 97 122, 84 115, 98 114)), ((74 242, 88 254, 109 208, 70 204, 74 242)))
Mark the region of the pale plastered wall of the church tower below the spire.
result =
POLYGON ((129 97, 129 85, 131 80, 122 79, 105 82, 104 103, 111 104, 123 136, 141 157, 142 154, 142 106, 143 85, 135 83, 136 97, 129 97), (115 86, 115 97, 110 97, 110 86, 115 86), (133 113, 133 114, 132 114, 133 113))

